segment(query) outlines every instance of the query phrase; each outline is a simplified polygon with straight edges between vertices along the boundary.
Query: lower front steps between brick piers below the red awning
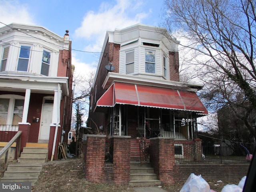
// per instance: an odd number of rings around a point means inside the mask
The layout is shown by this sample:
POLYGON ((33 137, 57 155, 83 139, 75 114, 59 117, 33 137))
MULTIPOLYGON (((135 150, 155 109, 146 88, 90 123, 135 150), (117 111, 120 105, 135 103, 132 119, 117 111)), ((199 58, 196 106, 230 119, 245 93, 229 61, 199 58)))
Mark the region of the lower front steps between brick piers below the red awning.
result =
POLYGON ((151 164, 140 164, 140 162, 131 162, 130 186, 156 186, 161 185, 157 179, 154 168, 151 164))

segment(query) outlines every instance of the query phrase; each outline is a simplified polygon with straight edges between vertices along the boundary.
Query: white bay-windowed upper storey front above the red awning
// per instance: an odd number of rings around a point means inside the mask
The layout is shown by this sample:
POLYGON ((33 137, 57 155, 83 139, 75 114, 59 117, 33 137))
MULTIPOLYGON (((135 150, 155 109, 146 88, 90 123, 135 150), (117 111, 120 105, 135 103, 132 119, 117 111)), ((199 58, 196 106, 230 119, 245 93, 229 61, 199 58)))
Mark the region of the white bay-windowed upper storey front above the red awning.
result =
POLYGON ((120 74, 179 81, 178 41, 166 29, 138 24, 107 35, 108 42, 120 45, 119 61, 109 61, 120 74))

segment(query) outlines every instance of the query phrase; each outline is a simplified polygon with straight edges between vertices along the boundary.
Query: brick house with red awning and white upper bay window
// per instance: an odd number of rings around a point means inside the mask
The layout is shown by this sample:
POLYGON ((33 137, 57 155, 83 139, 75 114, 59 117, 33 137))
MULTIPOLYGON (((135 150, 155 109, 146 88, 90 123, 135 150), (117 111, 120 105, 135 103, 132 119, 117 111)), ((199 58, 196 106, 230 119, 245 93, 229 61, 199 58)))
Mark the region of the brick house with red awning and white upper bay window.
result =
MULTIPOLYGON (((166 181, 161 174, 172 166, 174 157, 186 158, 190 151, 186 144, 200 141, 196 118, 208 114, 196 94, 201 88, 179 81, 178 41, 166 29, 137 24, 107 31, 90 94, 87 126, 95 132, 102 130, 106 146, 114 139, 111 156, 118 158, 113 160, 113 178, 106 172, 102 176, 104 170, 98 178, 127 184, 133 160, 130 145, 144 138, 144 143, 150 142, 150 162, 158 179, 166 181), (161 145, 165 152, 160 154, 156 146, 161 145), (173 154, 172 163, 161 163, 166 152, 170 152, 167 156, 173 154)), ((87 142, 93 138, 88 135, 87 142)), ((85 147, 88 154, 89 144, 85 147)), ((87 171, 87 178, 95 174, 87 171)), ((99 180, 94 176, 92 181, 99 180)))

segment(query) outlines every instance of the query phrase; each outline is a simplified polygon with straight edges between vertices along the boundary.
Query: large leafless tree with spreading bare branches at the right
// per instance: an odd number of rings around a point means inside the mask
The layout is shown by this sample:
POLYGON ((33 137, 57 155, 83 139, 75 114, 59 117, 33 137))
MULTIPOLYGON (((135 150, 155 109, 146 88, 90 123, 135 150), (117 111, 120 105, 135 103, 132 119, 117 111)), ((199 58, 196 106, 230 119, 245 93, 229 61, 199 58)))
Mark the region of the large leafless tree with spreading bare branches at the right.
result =
POLYGON ((256 109, 255 6, 255 0, 166 0, 163 14, 169 32, 187 40, 180 43, 193 56, 187 69, 193 66, 191 74, 196 71, 203 80, 202 96, 210 110, 227 104, 244 107, 244 114, 237 116, 254 138, 250 121, 256 109))

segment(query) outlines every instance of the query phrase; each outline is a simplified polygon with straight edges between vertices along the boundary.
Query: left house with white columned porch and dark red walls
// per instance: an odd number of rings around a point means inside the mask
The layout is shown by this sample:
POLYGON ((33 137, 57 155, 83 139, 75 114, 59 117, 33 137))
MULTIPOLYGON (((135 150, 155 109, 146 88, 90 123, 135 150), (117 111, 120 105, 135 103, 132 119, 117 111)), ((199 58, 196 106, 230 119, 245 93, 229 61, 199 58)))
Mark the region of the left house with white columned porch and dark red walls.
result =
POLYGON ((56 159, 71 122, 74 66, 68 30, 61 37, 42 26, 4 26, 0 57, 0 142, 22 130, 21 151, 28 143, 46 144, 48 159, 52 151, 56 159))

